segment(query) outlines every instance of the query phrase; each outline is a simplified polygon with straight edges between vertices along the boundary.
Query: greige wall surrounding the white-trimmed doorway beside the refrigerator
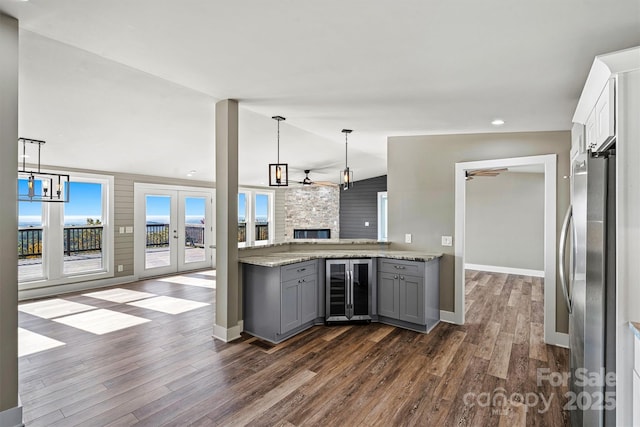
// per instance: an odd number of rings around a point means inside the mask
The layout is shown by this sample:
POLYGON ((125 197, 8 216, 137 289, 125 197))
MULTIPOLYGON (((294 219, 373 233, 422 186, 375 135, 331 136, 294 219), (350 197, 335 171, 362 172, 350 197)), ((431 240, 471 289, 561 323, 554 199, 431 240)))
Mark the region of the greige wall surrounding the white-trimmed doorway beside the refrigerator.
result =
MULTIPOLYGON (((455 241, 456 162, 558 155, 557 232, 569 204, 568 131, 425 135, 390 137, 387 144, 389 241, 394 249, 443 253, 440 262, 440 308, 454 310, 454 247, 440 245, 440 237, 455 241), (405 233, 413 243, 405 244, 405 233)), ((557 280, 556 330, 566 332, 568 314, 557 280)))

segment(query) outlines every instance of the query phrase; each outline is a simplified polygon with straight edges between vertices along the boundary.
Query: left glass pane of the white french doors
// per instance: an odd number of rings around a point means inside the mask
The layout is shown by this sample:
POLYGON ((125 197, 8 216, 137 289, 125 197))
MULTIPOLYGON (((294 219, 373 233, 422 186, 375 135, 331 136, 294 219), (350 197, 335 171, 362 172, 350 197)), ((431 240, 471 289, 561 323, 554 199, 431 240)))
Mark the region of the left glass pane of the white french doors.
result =
POLYGON ((166 267, 171 264, 169 250, 171 196, 147 195, 145 209, 147 242, 144 266, 145 268, 166 267))

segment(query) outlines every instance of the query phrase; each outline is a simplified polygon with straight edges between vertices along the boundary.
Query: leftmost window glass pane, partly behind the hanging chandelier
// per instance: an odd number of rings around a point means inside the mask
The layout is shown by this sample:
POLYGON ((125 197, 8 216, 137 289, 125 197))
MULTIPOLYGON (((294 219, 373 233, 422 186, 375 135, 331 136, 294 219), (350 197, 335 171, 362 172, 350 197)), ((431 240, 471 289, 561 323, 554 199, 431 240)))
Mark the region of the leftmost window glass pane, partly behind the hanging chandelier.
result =
MULTIPOLYGON (((27 194, 26 179, 18 180, 18 191, 27 194)), ((42 191, 40 181, 35 181, 34 192, 42 191)), ((41 279, 42 269, 42 202, 18 202, 18 281, 41 279)))

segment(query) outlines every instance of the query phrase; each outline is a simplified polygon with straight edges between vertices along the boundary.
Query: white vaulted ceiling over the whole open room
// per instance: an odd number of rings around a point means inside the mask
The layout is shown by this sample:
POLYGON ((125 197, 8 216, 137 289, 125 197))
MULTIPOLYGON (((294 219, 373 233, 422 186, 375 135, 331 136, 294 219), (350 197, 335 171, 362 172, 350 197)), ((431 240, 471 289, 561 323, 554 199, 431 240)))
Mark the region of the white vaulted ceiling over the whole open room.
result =
MULTIPOLYGON (((392 135, 565 130, 595 55, 640 45, 640 0, 0 0, 20 20, 20 134, 43 163, 214 180, 240 102, 240 182, 384 174, 392 135), (490 121, 500 117, 499 129, 490 121), (85 155, 91 153, 91 155, 85 155), (78 153, 83 153, 78 157, 78 153)), ((435 153, 434 153, 435 154, 435 153)))

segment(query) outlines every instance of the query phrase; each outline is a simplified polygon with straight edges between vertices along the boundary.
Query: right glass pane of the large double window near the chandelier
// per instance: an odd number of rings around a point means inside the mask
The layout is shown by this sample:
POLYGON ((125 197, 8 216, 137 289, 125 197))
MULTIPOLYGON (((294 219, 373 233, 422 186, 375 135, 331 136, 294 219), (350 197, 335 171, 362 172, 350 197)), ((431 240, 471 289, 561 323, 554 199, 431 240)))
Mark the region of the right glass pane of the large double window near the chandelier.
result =
POLYGON ((64 204, 63 273, 101 270, 102 184, 70 182, 69 186, 73 197, 64 204))

